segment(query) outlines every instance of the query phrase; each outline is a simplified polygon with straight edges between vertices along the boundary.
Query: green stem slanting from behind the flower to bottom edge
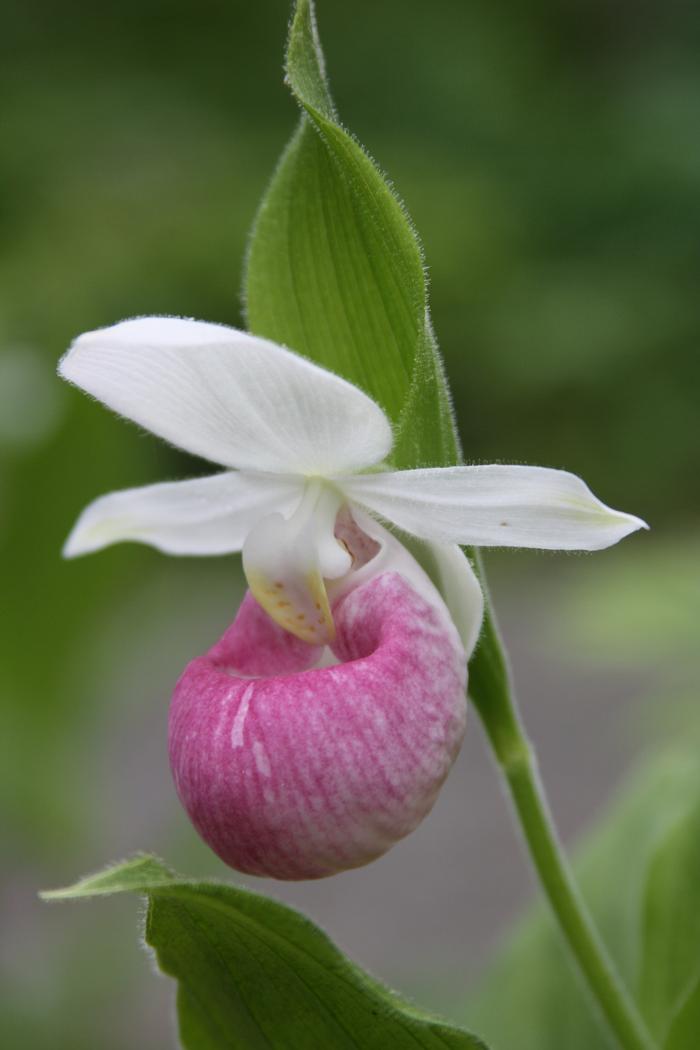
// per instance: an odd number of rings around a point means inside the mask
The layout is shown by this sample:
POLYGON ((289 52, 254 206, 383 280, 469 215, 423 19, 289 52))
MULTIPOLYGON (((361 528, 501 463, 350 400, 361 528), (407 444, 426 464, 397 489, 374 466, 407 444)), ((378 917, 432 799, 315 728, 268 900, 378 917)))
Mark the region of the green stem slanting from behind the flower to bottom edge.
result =
POLYGON ((593 924, 558 840, 536 758, 515 704, 504 646, 490 611, 470 668, 470 695, 508 784, 542 887, 591 993, 620 1047, 656 1050, 593 924))

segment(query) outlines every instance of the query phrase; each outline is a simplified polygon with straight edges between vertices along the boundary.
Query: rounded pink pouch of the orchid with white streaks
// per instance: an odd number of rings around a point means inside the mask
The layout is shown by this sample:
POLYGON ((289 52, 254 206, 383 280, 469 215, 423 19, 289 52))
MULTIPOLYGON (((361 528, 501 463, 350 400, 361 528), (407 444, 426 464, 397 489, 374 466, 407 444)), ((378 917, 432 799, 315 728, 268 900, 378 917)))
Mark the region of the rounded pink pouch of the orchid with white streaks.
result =
POLYGON ((398 572, 338 598, 333 666, 248 595, 179 679, 170 760, 195 827, 229 865, 279 879, 357 867, 431 808, 459 751, 466 660, 398 572))

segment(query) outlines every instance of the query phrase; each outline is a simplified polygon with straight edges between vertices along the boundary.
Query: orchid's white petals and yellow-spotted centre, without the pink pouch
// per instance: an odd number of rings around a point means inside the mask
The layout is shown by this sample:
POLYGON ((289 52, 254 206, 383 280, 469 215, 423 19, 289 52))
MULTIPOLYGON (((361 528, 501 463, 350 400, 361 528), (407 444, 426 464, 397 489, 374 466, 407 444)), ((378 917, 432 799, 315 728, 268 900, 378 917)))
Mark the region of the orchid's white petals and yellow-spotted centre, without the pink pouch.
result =
POLYGON ((224 326, 123 321, 77 339, 59 371, 158 437, 228 468, 102 497, 79 519, 65 554, 123 540, 171 554, 242 550, 257 601, 307 642, 333 638, 324 581, 351 568, 334 537, 344 504, 422 540, 476 547, 595 550, 643 526, 564 470, 383 470, 391 427, 379 405, 289 350, 224 326))

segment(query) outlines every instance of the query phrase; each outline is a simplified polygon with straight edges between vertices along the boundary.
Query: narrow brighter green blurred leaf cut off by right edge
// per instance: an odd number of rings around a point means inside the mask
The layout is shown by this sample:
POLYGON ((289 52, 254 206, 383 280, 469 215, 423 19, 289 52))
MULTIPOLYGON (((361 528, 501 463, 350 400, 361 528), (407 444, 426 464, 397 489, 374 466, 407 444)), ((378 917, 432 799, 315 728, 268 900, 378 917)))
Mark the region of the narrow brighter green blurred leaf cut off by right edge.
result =
POLYGON ((639 1001, 658 1036, 699 976, 700 805, 661 841, 646 880, 639 1001))

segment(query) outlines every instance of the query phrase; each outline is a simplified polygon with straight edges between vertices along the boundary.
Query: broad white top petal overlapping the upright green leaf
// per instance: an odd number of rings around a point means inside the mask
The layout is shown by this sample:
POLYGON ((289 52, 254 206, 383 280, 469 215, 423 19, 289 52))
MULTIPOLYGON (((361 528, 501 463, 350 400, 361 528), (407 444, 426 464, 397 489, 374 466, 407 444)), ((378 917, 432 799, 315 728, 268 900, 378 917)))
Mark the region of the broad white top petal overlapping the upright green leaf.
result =
POLYGON ((267 339, 178 317, 80 336, 69 382, 190 453, 275 474, 344 474, 382 460, 391 428, 352 383, 267 339))

